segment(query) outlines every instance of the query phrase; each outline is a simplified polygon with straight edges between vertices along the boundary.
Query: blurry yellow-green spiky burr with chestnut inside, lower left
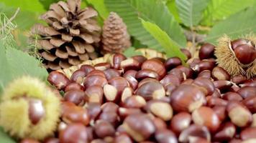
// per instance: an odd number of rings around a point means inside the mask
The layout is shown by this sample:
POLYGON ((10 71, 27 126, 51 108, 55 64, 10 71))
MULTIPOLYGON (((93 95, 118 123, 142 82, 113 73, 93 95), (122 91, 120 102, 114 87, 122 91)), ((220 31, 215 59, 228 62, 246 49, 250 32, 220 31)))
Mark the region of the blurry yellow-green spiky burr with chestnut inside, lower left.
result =
POLYGON ((16 79, 1 97, 0 126, 17 139, 52 135, 59 117, 60 99, 39 79, 16 79))

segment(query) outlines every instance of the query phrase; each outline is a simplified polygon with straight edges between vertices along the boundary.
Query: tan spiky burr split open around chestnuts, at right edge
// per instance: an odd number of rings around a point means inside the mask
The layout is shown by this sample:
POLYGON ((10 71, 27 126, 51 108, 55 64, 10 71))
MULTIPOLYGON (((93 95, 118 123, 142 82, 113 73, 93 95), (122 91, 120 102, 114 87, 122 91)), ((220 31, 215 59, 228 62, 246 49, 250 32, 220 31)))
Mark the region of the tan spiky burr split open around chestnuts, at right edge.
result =
POLYGON ((215 49, 216 62, 232 76, 243 74, 247 78, 256 75, 256 37, 248 35, 244 39, 232 41, 224 35, 215 49))

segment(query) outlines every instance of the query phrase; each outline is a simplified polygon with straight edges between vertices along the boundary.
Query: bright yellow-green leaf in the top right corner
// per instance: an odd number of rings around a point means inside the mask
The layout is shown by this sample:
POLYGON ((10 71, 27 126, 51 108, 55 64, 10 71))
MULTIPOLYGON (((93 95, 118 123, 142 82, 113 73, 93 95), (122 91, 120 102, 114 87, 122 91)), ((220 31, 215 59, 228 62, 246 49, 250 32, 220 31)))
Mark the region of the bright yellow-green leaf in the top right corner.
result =
POLYGON ((242 11, 249 6, 252 6, 255 0, 214 0, 207 6, 204 11, 202 24, 213 25, 216 21, 226 19, 232 14, 242 11))

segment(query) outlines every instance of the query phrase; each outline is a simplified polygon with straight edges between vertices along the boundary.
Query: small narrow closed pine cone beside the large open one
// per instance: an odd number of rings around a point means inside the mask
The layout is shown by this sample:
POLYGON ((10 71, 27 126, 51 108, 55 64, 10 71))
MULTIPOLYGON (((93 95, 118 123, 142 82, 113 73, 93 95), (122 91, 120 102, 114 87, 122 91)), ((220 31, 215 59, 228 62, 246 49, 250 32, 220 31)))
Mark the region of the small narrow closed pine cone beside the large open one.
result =
POLYGON ((109 18, 104 21, 102 36, 104 53, 120 53, 131 46, 127 26, 114 12, 111 12, 109 18))

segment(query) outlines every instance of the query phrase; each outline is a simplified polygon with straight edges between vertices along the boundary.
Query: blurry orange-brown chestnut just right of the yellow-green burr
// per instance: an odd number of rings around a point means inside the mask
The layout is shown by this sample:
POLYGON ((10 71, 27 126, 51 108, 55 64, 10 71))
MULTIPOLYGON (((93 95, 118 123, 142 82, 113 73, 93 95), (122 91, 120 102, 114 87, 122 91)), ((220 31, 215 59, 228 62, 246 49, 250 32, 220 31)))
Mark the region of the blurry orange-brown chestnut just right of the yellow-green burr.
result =
POLYGON ((89 124, 89 114, 87 109, 78 107, 72 102, 63 102, 62 104, 62 119, 65 123, 81 123, 89 124))

